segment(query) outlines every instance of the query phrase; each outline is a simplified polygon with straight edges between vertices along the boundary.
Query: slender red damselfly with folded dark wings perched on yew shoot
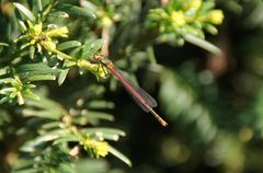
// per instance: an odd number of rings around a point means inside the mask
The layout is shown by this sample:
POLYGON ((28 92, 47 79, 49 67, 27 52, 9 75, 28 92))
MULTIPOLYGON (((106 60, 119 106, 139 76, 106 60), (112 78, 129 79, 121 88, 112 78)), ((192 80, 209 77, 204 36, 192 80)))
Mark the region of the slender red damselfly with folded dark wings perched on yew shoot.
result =
POLYGON ((115 68, 114 64, 102 55, 94 56, 94 60, 100 62, 103 67, 106 67, 107 70, 125 86, 125 89, 132 94, 134 100, 138 105, 147 113, 151 113, 157 120, 162 125, 167 126, 168 123, 163 120, 152 108, 157 107, 156 100, 150 96, 145 90, 139 86, 134 86, 133 83, 125 78, 122 72, 115 68))

